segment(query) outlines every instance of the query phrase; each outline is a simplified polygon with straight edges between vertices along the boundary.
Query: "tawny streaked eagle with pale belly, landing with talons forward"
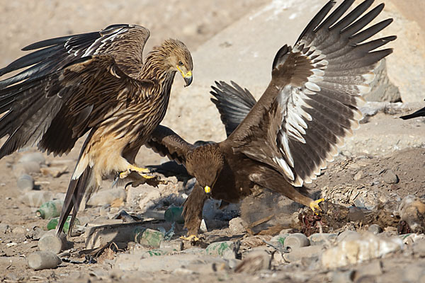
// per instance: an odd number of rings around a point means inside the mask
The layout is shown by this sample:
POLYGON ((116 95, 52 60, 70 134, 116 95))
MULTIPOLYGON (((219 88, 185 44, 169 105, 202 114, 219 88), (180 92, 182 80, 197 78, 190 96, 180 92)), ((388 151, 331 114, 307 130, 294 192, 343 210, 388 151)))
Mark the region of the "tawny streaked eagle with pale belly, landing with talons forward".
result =
POLYGON ((186 45, 165 40, 143 62, 148 37, 142 26, 111 25, 33 43, 23 50, 35 51, 0 69, 2 76, 28 67, 0 81, 0 138, 8 136, 0 158, 33 144, 67 154, 88 133, 57 233, 74 209, 72 227, 84 193, 97 190, 103 177, 149 173, 134 165, 135 156, 164 118, 176 72, 186 86, 192 82, 186 45))

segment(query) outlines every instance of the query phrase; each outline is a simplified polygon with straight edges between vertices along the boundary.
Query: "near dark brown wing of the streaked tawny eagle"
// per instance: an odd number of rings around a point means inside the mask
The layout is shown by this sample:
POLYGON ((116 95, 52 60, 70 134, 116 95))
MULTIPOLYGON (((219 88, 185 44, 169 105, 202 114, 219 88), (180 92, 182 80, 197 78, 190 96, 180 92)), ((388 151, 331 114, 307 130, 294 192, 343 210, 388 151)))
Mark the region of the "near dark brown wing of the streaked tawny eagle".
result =
POLYGON ((8 139, 0 158, 33 144, 67 153, 91 127, 113 118, 120 105, 148 99, 150 88, 152 81, 130 78, 111 55, 101 54, 1 89, 0 137, 8 139))

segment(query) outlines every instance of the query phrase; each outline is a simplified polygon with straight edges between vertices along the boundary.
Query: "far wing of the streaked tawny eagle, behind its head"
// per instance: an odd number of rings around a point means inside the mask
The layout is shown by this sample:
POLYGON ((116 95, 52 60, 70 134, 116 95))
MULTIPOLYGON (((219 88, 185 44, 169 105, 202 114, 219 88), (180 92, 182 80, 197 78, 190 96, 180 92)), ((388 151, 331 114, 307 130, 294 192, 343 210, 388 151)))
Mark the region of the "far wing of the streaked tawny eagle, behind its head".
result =
POLYGON ((110 25, 101 31, 67 35, 42 40, 23 47, 36 50, 16 59, 0 69, 0 76, 29 67, 11 78, 0 81, 0 88, 13 83, 35 79, 62 69, 77 59, 96 54, 111 54, 125 74, 133 78, 142 66, 142 52, 149 38, 149 30, 139 25, 110 25), (127 50, 127 52, 122 52, 127 50))

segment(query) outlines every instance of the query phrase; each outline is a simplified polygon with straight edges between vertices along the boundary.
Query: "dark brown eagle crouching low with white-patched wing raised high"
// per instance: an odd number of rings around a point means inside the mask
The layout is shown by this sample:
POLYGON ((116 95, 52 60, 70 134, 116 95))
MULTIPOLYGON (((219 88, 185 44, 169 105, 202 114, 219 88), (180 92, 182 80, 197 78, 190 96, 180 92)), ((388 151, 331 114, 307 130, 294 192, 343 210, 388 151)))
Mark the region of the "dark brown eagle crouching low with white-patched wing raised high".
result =
POLYGON ((189 235, 198 233, 208 194, 238 202, 256 185, 319 209, 322 200, 314 201, 295 187, 317 178, 358 127, 358 105, 370 91, 373 69, 392 52, 376 49, 396 38, 368 41, 392 22, 365 28, 384 4, 365 13, 373 4, 365 0, 341 18, 353 1, 344 1, 327 16, 335 4, 329 1, 294 47, 278 50, 271 81, 258 101, 235 83, 212 87, 212 101, 228 135, 224 141, 194 146, 167 127, 154 130, 147 146, 183 163, 196 177, 197 185, 184 204, 189 235))

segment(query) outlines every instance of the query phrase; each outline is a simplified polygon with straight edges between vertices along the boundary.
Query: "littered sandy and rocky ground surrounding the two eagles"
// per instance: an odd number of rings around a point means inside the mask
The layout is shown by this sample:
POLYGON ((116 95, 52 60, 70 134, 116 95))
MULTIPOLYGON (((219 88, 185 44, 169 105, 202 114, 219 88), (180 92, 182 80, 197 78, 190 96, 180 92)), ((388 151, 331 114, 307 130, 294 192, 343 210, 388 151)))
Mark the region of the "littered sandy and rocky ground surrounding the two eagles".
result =
MULTIPOLYGON (((36 40, 112 23, 147 25, 152 32, 147 49, 163 38, 179 37, 193 51, 194 81, 183 89, 176 79, 164 124, 189 141, 225 137, 209 102, 210 84, 233 79, 258 98, 268 83, 274 52, 293 42, 324 3, 86 2, 5 2, 0 7, 6 27, 0 31, 6 39, 0 42, 1 65, 36 40), (17 21, 23 17, 26 21, 17 21), (292 28, 276 38, 288 21, 292 28)), ((186 234, 182 224, 164 220, 166 209, 179 207, 191 192, 189 176, 163 176, 171 182, 157 188, 111 190, 106 181, 79 212, 80 225, 60 253, 62 263, 33 270, 27 262, 49 222, 36 210, 42 202, 64 198, 82 141, 62 157, 26 149, 0 161, 1 282, 424 282, 425 118, 398 118, 424 106, 425 52, 419 42, 425 41, 425 25, 415 12, 424 6, 421 1, 407 6, 386 2, 385 15, 396 19, 389 33, 399 39, 392 46, 394 58, 387 60, 383 93, 397 88, 392 101, 404 103, 362 108, 360 129, 308 185, 314 198, 326 200, 323 214, 268 191, 225 209, 210 200, 203 211, 204 233, 193 243, 179 238, 186 234), (407 59, 408 50, 414 51, 407 59), (414 64, 407 68, 409 62, 414 64), (31 179, 21 178, 23 173, 34 180, 33 190, 26 187, 31 179), (137 233, 141 228, 169 233, 158 245, 148 241, 147 233, 137 233)), ((140 164, 165 161, 147 149, 137 156, 140 164)))

